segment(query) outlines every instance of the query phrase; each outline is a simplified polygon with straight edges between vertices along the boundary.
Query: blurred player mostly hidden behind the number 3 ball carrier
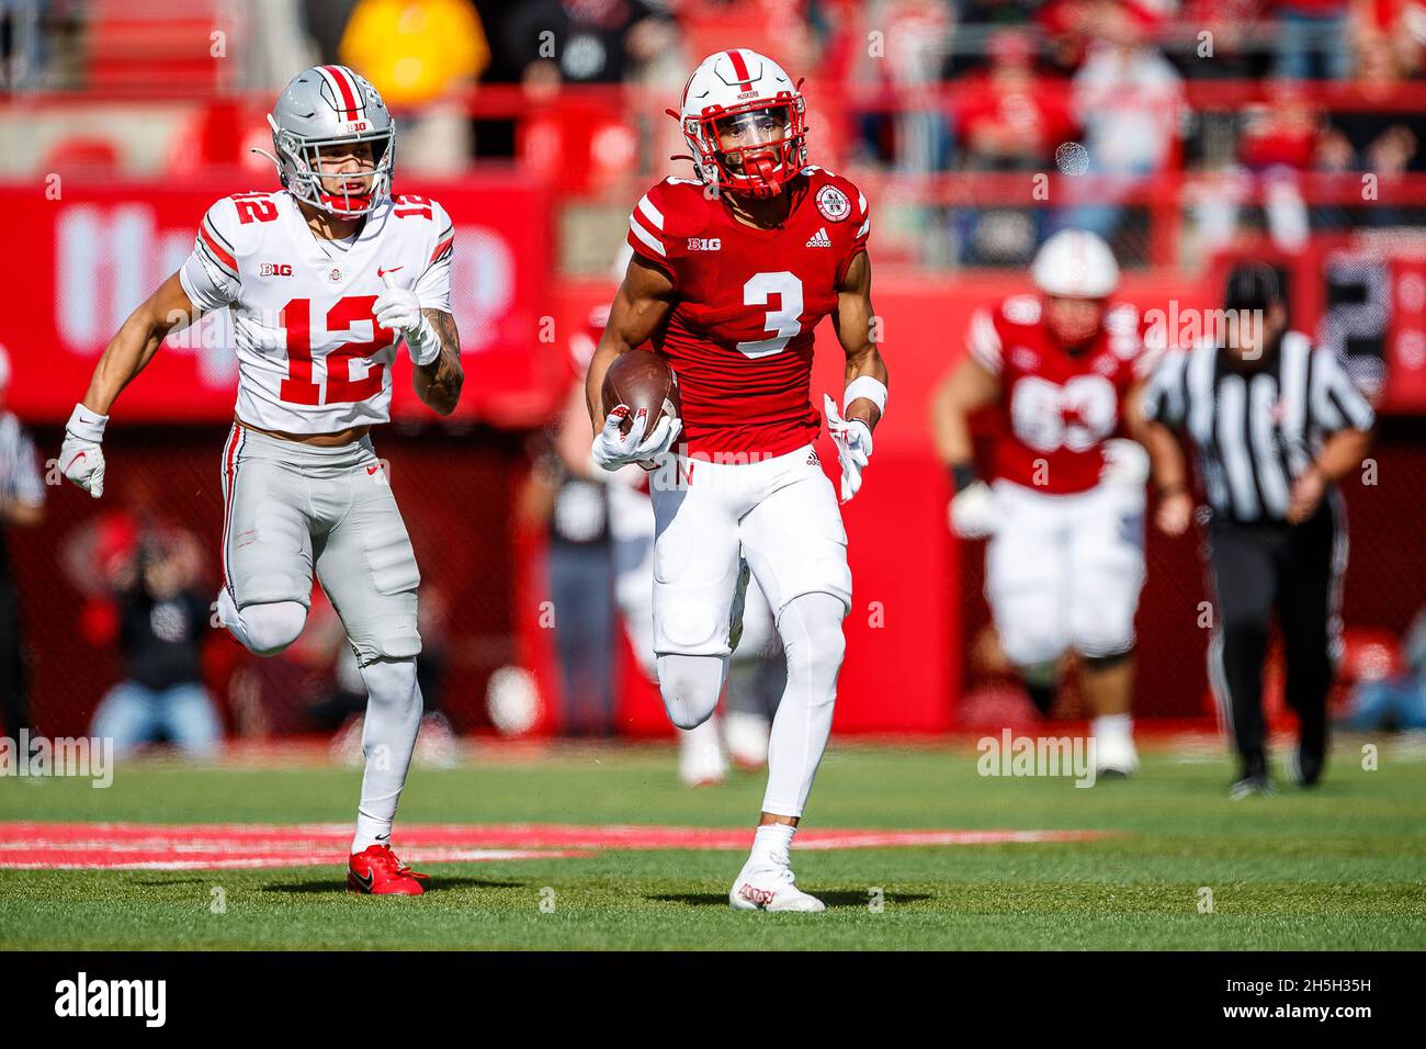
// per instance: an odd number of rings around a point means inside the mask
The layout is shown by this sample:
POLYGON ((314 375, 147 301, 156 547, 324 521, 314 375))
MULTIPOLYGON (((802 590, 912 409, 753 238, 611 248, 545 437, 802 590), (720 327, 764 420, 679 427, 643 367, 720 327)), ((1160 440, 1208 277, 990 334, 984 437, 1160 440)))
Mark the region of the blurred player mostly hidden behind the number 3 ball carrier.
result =
MULTIPOLYGON (((620 273, 632 251, 620 253, 620 273)), ((657 684, 653 645, 653 539, 655 514, 649 474, 636 465, 613 472, 600 470, 589 455, 585 434, 589 421, 583 375, 609 323, 609 307, 597 307, 583 331, 570 341, 572 364, 580 375, 560 420, 558 448, 563 468, 605 490, 607 531, 613 559, 613 598, 629 632, 639 668, 657 684)), ((729 758, 746 771, 767 764, 767 738, 787 671, 767 598, 754 579, 747 582, 743 637, 729 657, 723 716, 710 715, 702 725, 680 728, 679 779, 689 786, 722 784, 729 758)))

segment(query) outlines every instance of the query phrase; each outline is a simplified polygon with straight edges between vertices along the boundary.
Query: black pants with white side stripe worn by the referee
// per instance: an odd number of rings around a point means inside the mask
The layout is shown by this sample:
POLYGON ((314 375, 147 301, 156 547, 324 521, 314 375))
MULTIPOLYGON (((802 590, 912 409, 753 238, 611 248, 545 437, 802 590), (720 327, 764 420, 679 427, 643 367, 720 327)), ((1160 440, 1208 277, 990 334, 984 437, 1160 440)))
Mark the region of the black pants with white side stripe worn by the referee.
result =
POLYGON ((1218 632, 1209 678, 1226 701, 1233 742, 1249 771, 1265 762, 1262 676, 1269 621, 1276 612, 1288 665, 1286 701, 1301 725, 1306 764, 1328 738, 1328 689, 1338 644, 1339 579, 1346 534, 1333 511, 1336 494, 1299 525, 1281 521, 1209 527, 1209 565, 1218 597, 1218 632))

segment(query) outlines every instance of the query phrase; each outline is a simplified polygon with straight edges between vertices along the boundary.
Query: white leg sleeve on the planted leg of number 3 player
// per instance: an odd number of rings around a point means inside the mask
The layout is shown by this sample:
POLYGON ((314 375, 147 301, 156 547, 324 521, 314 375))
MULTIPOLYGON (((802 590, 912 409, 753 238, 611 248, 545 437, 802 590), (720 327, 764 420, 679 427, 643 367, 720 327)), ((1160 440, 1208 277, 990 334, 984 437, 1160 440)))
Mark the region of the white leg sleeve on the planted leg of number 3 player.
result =
POLYGON ((846 641, 841 598, 803 594, 787 602, 777 618, 787 657, 787 688, 767 739, 767 792, 763 812, 800 816, 811 792, 837 701, 837 672, 846 641))

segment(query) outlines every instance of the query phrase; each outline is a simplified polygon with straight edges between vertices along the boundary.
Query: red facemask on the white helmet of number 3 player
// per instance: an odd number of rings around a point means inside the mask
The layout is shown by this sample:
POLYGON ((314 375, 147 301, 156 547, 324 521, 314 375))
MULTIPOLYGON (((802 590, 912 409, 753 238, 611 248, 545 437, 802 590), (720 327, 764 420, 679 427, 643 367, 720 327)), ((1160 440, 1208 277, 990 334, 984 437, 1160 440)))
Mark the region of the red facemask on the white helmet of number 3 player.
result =
POLYGON ((749 197, 776 197, 807 163, 801 96, 754 98, 684 121, 706 181, 749 197))

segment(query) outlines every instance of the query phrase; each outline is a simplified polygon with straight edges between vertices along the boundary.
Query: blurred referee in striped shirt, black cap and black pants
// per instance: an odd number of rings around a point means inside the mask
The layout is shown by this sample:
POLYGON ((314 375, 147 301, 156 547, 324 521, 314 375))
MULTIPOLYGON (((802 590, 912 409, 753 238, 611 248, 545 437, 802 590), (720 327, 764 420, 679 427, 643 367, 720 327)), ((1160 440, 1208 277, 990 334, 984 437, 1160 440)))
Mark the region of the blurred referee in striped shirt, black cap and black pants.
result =
POLYGON ((1161 485, 1159 527, 1181 534, 1194 507, 1172 430, 1194 447, 1208 497, 1218 605, 1208 676, 1242 759, 1231 794, 1243 798, 1272 792, 1262 672, 1273 612, 1299 725, 1295 776, 1303 786, 1322 776, 1348 549, 1333 485, 1360 468, 1375 418, 1332 351, 1288 330, 1272 267, 1235 267, 1224 313, 1216 340, 1165 357, 1142 411, 1161 485))

